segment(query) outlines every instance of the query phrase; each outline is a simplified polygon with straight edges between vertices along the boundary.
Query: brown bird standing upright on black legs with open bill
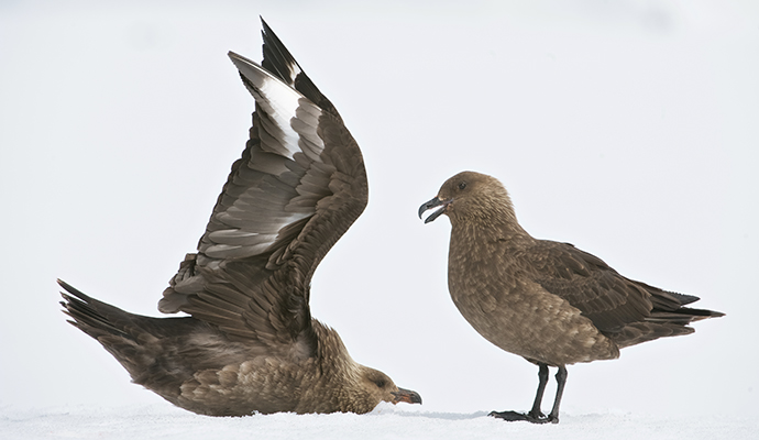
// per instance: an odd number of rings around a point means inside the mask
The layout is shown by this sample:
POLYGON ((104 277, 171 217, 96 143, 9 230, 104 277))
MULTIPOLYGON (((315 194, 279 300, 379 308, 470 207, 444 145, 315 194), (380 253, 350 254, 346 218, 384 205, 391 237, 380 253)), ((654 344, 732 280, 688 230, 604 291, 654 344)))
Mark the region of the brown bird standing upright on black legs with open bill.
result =
POLYGON ((628 279, 569 243, 534 239, 491 176, 451 177, 419 217, 436 207, 426 222, 443 213, 451 220, 448 285, 459 311, 485 339, 539 365, 532 409, 493 416, 557 422, 565 365, 616 359, 622 348, 692 333, 690 322, 723 316, 683 307, 698 298, 628 279), (559 388, 546 417, 548 366, 559 367, 559 388))

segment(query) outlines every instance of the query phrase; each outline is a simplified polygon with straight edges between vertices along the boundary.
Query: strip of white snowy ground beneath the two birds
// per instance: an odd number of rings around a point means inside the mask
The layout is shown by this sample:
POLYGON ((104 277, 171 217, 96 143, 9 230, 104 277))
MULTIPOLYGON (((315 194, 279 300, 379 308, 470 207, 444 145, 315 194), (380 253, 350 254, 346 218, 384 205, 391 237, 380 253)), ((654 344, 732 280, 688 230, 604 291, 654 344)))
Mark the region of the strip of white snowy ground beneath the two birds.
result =
POLYGON ((170 405, 0 409, 2 439, 756 439, 756 416, 668 417, 563 414, 558 425, 505 422, 486 413, 408 410, 389 404, 373 413, 207 417, 170 405))

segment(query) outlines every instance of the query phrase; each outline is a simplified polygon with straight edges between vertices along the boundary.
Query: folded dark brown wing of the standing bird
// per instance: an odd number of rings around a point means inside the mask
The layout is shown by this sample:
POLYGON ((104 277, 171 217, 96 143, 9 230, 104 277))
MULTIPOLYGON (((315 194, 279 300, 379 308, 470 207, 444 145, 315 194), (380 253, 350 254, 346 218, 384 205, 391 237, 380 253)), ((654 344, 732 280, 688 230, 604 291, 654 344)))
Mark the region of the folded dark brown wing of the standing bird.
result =
POLYGON ((569 243, 538 241, 535 255, 539 255, 536 282, 580 309, 601 331, 615 332, 632 322, 650 321, 660 312, 698 299, 628 279, 569 243))

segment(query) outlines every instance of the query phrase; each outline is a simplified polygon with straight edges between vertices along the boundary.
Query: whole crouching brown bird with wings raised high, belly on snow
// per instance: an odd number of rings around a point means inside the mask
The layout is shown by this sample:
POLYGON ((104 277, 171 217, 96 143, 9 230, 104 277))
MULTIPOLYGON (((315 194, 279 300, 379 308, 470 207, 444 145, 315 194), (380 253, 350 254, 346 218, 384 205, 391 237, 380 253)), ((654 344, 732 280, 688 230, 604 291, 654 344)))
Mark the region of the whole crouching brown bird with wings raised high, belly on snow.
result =
POLYGON ((366 206, 359 145, 332 103, 264 25, 262 66, 230 53, 256 101, 250 141, 148 318, 58 282, 65 312, 130 373, 182 408, 211 416, 371 411, 421 403, 354 362, 311 318, 314 272, 366 206))

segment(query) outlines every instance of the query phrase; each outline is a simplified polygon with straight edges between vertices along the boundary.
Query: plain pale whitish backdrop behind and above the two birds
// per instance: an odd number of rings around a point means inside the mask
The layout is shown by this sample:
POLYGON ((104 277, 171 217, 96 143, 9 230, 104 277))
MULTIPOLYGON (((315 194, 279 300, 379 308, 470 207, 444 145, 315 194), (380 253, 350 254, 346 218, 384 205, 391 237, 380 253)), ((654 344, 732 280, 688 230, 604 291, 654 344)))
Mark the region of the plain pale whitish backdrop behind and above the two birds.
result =
POLYGON ((170 406, 65 322, 55 279, 158 316, 248 139, 227 52, 261 59, 258 14, 366 161, 370 205, 311 292, 356 361, 425 411, 529 408, 537 369, 459 315, 450 226, 416 217, 472 169, 532 235, 727 314, 570 366, 564 414, 759 410, 757 3, 105 4, 0 2, 0 413, 170 406))

